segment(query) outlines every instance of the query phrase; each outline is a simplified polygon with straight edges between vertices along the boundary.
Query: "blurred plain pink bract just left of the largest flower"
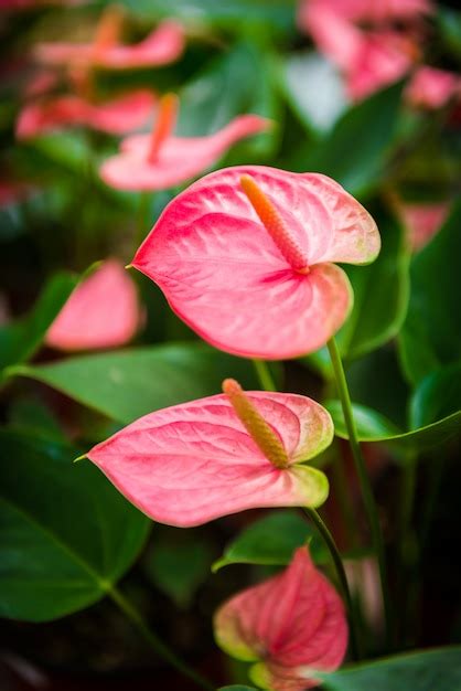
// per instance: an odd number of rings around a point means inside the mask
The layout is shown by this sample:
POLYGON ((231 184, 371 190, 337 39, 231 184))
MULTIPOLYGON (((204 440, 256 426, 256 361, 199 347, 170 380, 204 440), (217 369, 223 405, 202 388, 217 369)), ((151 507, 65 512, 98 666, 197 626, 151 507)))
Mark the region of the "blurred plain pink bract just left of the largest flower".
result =
POLYGON ((50 327, 46 343, 64 351, 124 346, 141 320, 136 287, 116 259, 79 284, 50 327))

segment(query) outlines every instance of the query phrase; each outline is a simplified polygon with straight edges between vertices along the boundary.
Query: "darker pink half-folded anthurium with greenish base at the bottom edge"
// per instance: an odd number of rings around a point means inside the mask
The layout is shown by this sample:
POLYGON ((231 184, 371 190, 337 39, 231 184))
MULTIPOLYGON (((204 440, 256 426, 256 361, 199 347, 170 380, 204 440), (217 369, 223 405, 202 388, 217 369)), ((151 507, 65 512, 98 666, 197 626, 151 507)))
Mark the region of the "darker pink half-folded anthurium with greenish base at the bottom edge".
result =
POLYGON ((343 603, 307 546, 283 572, 225 603, 214 630, 227 653, 257 662, 251 680, 275 691, 317 687, 315 672, 337 669, 347 648, 343 603))

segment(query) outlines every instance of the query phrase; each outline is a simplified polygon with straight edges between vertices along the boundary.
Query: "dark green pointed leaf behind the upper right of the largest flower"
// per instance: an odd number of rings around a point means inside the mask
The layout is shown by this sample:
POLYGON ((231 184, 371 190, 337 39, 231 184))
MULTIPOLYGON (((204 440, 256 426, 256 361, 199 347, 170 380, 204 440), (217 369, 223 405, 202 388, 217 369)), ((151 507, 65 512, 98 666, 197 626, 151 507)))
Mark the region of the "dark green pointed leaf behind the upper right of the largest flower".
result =
POLYGON ((394 84, 352 106, 313 150, 301 145, 288 168, 325 173, 353 194, 376 188, 397 129, 400 95, 401 84, 394 84))

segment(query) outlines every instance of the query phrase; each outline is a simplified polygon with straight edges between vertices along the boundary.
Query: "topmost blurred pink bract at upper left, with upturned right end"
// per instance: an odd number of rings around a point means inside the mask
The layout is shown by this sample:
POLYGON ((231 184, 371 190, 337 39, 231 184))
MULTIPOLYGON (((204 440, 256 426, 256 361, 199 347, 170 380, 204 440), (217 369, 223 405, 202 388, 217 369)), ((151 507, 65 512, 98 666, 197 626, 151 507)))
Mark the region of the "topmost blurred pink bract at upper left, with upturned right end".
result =
POLYGON ((35 49, 39 61, 49 65, 87 65, 106 70, 133 70, 165 65, 184 50, 184 30, 165 21, 135 45, 108 43, 42 43, 35 49))

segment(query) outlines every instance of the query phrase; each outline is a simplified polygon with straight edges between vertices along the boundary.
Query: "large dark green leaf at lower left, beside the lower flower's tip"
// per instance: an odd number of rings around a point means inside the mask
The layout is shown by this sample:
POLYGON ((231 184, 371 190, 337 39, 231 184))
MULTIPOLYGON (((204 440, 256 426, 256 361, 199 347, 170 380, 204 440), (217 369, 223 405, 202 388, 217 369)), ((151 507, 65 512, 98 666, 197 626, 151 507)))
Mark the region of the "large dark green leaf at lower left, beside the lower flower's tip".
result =
POLYGON ((47 621, 104 597, 148 519, 68 446, 3 429, 0 447, 0 616, 47 621))

